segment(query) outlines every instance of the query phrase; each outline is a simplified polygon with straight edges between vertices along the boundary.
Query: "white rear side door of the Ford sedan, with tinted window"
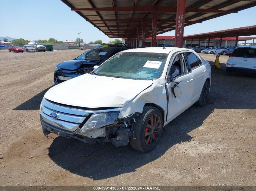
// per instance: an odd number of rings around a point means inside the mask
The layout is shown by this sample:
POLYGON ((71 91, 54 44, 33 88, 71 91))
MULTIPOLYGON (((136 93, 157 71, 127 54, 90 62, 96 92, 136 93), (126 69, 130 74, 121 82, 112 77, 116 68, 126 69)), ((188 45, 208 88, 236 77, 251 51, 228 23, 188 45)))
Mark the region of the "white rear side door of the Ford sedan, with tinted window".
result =
POLYGON ((201 94, 204 85, 204 75, 206 72, 206 67, 202 64, 201 59, 194 53, 186 52, 186 57, 188 60, 188 64, 190 65, 191 72, 194 76, 194 89, 191 98, 191 101, 193 103, 198 100, 201 94))

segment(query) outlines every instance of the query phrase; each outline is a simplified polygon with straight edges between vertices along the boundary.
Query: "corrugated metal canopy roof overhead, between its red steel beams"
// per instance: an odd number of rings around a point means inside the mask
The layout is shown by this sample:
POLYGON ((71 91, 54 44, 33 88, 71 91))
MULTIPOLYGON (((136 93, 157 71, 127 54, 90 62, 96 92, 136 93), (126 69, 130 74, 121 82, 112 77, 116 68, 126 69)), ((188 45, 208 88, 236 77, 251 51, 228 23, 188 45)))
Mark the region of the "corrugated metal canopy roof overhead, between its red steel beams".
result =
MULTIPOLYGON (((149 6, 163 6, 165 8, 170 7, 170 10, 176 8, 177 0, 61 0, 70 8, 113 8, 111 10, 86 10, 75 11, 85 20, 89 21, 108 37, 127 37, 132 31, 124 31, 127 29, 137 30, 138 27, 142 27, 142 19, 148 19, 146 25, 151 25, 152 12, 150 9, 146 11, 133 11, 132 7, 147 8, 149 6), (129 8, 129 11, 114 11, 114 8, 129 8), (126 19, 126 20, 124 20, 126 19), (128 22, 128 20, 130 22, 128 22), (132 21, 132 22, 131 22, 132 21), (119 27, 124 26, 125 27, 119 27), (108 27, 108 26, 111 26, 108 27), (113 27, 116 26, 116 27, 113 27), (136 26, 136 27, 134 27, 136 26), (122 30, 120 30, 122 29, 122 30), (108 30, 108 31, 107 31, 108 30)), ((241 11, 246 8, 256 6, 255 0, 186 0, 186 8, 200 8, 222 11, 241 11)), ((212 18, 220 17, 229 13, 211 13, 211 12, 186 12, 185 21, 202 22, 212 18)), ((168 19, 172 22, 158 22, 157 34, 161 34, 167 31, 174 30, 176 12, 164 12, 158 11, 158 19, 168 19), (171 28, 166 28, 171 27, 171 28)), ((185 22, 185 26, 194 23, 185 22)), ((151 36, 151 29, 147 29, 146 37, 151 36)))

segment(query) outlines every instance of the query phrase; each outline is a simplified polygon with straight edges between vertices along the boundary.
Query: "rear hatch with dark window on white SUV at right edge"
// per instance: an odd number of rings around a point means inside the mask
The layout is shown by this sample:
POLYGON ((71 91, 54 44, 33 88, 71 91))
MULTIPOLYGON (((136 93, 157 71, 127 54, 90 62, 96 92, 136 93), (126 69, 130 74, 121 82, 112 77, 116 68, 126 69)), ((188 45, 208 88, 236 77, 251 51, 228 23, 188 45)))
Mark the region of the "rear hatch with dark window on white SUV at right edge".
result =
POLYGON ((236 48, 228 61, 235 64, 234 67, 254 69, 256 66, 256 48, 236 48))

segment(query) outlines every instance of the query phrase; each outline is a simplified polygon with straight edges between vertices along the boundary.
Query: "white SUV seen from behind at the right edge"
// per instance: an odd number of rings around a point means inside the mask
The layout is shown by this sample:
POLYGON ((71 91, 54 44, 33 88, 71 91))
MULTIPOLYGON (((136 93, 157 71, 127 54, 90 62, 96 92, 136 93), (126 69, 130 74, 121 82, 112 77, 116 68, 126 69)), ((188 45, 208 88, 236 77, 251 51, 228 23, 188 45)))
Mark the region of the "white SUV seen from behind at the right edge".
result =
POLYGON ((256 46, 238 46, 229 55, 226 74, 233 72, 256 73, 256 46))

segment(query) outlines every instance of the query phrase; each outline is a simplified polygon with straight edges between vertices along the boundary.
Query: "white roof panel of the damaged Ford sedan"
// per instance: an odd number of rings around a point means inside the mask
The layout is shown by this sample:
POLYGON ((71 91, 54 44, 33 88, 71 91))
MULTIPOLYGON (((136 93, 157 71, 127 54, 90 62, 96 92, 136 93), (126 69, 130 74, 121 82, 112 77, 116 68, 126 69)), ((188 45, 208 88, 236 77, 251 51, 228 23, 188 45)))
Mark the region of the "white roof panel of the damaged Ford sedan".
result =
POLYGON ((169 54, 173 50, 183 50, 188 51, 188 49, 185 48, 177 48, 177 47, 148 47, 148 48, 136 48, 136 49, 127 49, 124 50, 123 53, 165 53, 169 54))

